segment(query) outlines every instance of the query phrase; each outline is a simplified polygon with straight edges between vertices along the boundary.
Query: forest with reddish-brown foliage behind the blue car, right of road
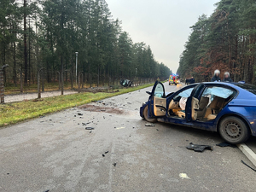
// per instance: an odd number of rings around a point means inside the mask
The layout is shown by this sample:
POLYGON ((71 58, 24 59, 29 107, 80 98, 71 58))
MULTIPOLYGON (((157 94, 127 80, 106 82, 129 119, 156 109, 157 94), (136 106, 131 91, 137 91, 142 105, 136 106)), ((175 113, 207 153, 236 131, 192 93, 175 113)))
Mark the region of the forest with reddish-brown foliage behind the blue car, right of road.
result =
POLYGON ((180 55, 177 73, 209 81, 215 69, 234 81, 256 84, 256 2, 221 0, 211 16, 201 15, 180 55))

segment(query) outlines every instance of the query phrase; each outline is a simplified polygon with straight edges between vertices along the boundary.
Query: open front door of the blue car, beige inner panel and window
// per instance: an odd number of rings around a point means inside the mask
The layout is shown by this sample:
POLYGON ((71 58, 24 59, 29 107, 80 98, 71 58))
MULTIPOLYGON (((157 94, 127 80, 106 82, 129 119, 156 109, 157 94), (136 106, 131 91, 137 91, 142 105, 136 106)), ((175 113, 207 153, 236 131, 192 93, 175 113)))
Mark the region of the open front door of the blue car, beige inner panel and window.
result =
POLYGON ((148 118, 154 119, 166 115, 166 92, 165 86, 156 81, 149 97, 148 118))

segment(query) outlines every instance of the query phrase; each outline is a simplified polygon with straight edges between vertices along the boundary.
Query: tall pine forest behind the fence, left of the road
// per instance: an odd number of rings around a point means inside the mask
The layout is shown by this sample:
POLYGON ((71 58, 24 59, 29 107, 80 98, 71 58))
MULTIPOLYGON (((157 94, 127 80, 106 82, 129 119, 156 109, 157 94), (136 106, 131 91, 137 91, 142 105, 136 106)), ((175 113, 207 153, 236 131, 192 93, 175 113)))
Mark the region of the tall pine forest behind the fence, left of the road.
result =
POLYGON ((0 0, 5 85, 37 84, 38 73, 49 83, 74 81, 76 74, 96 85, 167 79, 171 70, 155 61, 149 45, 133 43, 121 25, 105 0, 0 0))

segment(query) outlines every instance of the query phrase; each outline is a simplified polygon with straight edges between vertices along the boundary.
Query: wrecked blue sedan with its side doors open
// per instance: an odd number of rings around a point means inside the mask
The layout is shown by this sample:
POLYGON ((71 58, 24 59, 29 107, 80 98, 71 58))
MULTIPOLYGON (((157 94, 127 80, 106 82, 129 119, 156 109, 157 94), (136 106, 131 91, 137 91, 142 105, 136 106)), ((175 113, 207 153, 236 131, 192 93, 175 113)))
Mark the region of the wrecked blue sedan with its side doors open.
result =
POLYGON ((241 83, 189 84, 166 95, 155 82, 140 115, 149 122, 185 125, 218 131, 228 143, 244 143, 256 136, 256 86, 241 83))

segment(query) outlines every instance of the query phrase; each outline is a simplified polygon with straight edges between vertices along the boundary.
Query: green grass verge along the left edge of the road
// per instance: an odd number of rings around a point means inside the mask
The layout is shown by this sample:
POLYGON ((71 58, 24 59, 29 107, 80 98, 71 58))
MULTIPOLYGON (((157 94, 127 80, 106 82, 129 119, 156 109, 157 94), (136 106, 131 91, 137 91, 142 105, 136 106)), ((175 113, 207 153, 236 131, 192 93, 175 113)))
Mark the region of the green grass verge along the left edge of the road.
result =
POLYGON ((99 101, 111 96, 118 96, 134 90, 152 86, 143 84, 137 87, 119 89, 118 92, 85 92, 67 96, 53 96, 41 100, 12 102, 0 104, 0 127, 13 125, 26 119, 33 119, 47 113, 55 113, 67 108, 73 108, 93 101, 99 101))

